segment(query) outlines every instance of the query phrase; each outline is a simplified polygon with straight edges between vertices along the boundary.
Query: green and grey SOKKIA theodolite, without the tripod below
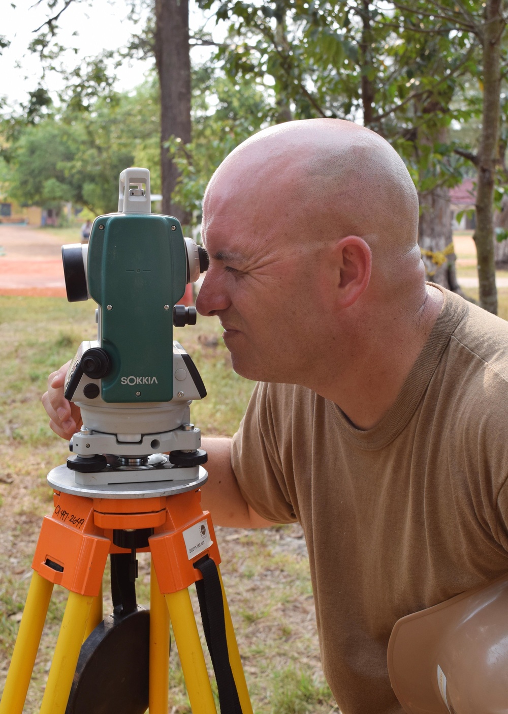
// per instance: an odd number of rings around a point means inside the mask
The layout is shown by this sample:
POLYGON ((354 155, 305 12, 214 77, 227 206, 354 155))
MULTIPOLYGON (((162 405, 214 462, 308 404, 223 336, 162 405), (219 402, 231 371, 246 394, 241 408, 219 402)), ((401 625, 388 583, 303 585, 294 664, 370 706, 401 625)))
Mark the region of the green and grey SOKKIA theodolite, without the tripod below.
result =
POLYGON ((61 486, 194 480, 206 454, 190 404, 206 396, 173 325, 195 324, 178 305, 208 256, 180 223, 151 213, 148 169, 122 171, 118 213, 94 221, 88 244, 62 248, 68 300, 96 301, 98 336, 81 343, 65 396, 81 408, 73 456, 50 475, 61 486), (163 452, 169 453, 164 456, 163 452))

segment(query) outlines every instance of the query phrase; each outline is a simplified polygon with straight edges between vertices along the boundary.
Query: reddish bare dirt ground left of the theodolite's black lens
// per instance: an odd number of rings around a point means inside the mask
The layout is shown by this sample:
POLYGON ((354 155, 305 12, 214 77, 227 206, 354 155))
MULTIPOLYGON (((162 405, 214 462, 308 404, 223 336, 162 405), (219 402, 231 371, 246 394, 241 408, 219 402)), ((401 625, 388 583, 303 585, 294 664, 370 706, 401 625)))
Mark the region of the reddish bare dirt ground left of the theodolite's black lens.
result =
POLYGON ((65 297, 60 236, 0 224, 0 295, 65 297))

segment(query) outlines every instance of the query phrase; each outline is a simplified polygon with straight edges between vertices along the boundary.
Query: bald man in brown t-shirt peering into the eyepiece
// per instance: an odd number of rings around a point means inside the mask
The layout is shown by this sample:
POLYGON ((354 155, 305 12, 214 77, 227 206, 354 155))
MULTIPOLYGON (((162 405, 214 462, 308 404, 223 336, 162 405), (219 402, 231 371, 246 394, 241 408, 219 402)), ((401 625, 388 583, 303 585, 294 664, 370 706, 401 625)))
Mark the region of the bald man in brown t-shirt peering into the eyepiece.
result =
MULTIPOLYGON (((260 381, 233 440, 203 442, 203 507, 223 526, 300 521, 344 714, 400 713, 395 622, 508 570, 508 325, 425 284, 417 225, 399 156, 335 119, 245 141, 203 204, 196 306, 260 381)), ((63 381, 43 401, 69 438, 63 381)))

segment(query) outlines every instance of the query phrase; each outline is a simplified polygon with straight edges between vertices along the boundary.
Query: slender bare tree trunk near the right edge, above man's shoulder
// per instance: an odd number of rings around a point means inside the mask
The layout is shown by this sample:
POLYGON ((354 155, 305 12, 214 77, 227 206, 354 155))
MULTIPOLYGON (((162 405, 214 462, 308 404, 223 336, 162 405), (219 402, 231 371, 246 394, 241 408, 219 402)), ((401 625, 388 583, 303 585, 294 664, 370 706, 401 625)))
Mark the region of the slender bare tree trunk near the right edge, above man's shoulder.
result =
POLYGON ((494 178, 498 158, 501 90, 501 41, 504 30, 502 0, 487 0, 482 34, 483 116, 478 151, 476 218, 473 239, 477 248, 479 304, 497 313, 494 265, 494 178))

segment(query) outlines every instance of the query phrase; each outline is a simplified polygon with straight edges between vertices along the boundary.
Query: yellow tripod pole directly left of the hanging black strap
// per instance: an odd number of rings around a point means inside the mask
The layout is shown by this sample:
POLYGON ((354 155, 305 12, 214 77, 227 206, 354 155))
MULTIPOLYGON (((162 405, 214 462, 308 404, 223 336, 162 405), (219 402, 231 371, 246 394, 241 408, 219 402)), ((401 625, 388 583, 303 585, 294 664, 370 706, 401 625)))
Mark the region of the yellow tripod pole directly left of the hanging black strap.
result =
POLYGON ((193 714, 217 714, 188 590, 164 596, 193 714))

